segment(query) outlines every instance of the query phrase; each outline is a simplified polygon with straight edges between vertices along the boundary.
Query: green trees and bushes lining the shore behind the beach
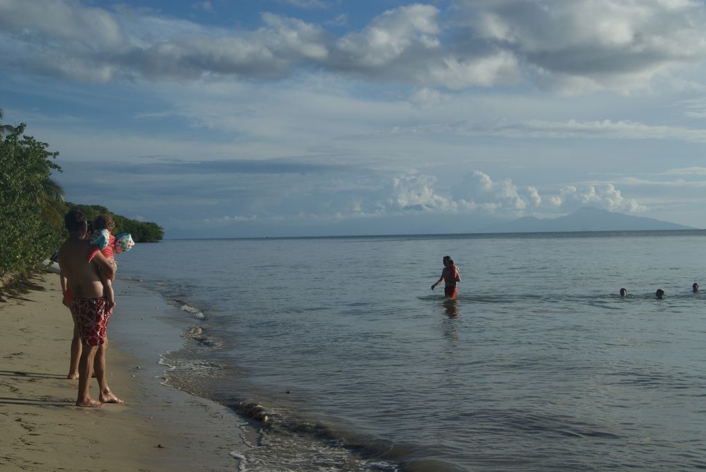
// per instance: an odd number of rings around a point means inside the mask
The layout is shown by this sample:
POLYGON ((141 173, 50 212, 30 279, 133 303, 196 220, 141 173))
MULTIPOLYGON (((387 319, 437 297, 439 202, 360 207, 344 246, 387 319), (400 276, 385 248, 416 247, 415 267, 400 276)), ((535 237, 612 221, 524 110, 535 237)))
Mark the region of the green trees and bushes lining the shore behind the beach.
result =
POLYGON ((90 220, 109 214, 114 234, 129 232, 137 243, 162 240, 164 230, 157 223, 131 220, 104 206, 66 201, 64 190, 52 180, 52 172, 61 172, 54 162, 59 152, 24 135, 25 128, 25 123, 2 124, 0 110, 0 278, 8 273, 25 275, 54 254, 68 235, 64 215, 73 208, 90 220))

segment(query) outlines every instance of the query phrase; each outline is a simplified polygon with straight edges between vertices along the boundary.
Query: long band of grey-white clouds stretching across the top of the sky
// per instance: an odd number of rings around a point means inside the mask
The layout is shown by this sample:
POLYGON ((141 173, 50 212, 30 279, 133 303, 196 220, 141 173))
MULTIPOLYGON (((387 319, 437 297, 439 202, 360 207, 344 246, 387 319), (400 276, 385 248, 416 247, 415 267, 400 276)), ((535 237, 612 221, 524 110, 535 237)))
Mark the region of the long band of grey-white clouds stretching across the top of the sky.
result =
MULTIPOLYGON (((433 5, 400 6, 336 37, 325 24, 275 13, 247 30, 126 6, 4 0, 0 52, 8 68, 72 80, 277 79, 319 68, 450 91, 535 82, 568 93, 683 81, 681 72, 706 58, 706 6, 697 1, 457 0, 454 8, 448 18, 433 5)), ((345 13, 337 18, 345 23, 345 13)))

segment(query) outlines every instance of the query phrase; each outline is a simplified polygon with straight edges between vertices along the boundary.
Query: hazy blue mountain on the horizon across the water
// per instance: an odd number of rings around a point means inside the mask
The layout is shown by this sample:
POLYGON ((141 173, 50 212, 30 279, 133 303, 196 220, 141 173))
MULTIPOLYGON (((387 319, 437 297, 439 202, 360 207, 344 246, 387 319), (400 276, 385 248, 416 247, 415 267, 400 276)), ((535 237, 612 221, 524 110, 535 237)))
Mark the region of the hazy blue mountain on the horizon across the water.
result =
POLYGON ((487 226, 483 232, 647 231, 693 230, 690 226, 597 208, 582 208, 559 218, 527 216, 487 226))

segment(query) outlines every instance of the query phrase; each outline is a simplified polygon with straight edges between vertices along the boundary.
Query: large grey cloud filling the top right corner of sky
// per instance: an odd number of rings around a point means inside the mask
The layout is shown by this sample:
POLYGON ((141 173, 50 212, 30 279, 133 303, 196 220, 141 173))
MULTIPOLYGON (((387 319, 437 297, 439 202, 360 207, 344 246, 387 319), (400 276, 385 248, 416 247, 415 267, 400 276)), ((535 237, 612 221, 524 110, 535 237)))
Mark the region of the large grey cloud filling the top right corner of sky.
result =
POLYGON ((702 62, 706 54, 706 13, 700 1, 457 4, 469 32, 521 57, 540 84, 566 92, 647 87, 657 75, 702 62))

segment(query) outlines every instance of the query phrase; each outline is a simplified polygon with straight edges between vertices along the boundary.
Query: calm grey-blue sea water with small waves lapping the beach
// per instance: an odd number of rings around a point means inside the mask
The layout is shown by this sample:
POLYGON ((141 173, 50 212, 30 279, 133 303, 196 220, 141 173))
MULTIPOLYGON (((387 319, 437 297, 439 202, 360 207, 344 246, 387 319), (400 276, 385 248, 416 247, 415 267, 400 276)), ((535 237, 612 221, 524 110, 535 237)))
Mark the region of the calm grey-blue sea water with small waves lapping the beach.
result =
POLYGON ((706 231, 167 240, 118 261, 181 308, 169 383, 260 425, 240 470, 706 468, 706 231), (430 289, 446 254, 455 302, 430 289))

